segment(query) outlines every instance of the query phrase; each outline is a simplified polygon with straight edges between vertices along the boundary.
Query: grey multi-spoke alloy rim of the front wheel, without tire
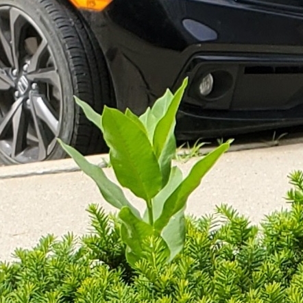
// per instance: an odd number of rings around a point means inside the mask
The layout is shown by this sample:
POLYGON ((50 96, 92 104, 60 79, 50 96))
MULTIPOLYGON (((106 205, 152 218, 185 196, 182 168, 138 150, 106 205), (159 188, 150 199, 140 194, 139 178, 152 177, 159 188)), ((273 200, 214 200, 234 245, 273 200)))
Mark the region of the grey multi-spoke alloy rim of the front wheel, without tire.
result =
POLYGON ((62 121, 62 83, 45 35, 30 16, 0 6, 0 153, 45 160, 62 121))

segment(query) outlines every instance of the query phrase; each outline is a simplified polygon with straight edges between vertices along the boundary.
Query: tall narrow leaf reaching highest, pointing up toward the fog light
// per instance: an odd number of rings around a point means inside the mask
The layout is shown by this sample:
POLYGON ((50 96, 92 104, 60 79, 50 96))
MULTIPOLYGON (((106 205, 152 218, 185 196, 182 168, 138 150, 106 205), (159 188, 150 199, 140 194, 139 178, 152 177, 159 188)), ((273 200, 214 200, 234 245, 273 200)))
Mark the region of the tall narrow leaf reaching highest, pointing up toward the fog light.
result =
POLYGON ((169 180, 169 175, 171 173, 171 160, 173 156, 175 156, 175 115, 178 112, 187 83, 188 80, 186 78, 177 93, 173 96, 173 99, 168 105, 167 112, 165 112, 165 115, 160 119, 154 131, 153 146, 160 164, 163 186, 169 180))

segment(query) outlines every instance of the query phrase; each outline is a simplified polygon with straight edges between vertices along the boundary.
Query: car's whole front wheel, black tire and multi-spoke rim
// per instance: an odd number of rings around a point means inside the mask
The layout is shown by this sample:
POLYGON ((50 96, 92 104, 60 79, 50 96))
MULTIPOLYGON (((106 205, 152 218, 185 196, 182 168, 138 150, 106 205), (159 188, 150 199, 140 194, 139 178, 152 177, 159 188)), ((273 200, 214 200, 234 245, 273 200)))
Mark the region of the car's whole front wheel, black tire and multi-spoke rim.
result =
POLYGON ((0 1, 0 158, 62 158, 56 138, 82 154, 102 148, 73 95, 101 111, 108 75, 80 14, 62 0, 0 1))

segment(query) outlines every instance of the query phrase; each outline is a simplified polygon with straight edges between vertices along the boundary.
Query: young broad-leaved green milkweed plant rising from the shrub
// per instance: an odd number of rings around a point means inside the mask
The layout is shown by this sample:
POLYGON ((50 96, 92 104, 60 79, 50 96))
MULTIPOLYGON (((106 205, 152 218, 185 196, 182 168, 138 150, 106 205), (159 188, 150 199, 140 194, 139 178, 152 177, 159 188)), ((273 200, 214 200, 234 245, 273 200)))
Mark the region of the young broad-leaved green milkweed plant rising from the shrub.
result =
POLYGON ((120 184, 109 180, 104 171, 91 164, 77 150, 60 141, 63 149, 97 184, 106 201, 119 209, 121 239, 126 245, 126 258, 132 267, 146 257, 146 243, 154 237, 160 242, 165 262, 182 250, 185 242, 184 210, 189 195, 199 186, 204 175, 230 147, 223 143, 198 160, 185 177, 172 166, 176 141, 175 116, 188 80, 173 95, 167 90, 154 106, 137 117, 105 106, 102 115, 76 98, 86 117, 103 132, 110 148, 110 163, 120 184), (126 199, 122 188, 145 201, 144 215, 126 199))

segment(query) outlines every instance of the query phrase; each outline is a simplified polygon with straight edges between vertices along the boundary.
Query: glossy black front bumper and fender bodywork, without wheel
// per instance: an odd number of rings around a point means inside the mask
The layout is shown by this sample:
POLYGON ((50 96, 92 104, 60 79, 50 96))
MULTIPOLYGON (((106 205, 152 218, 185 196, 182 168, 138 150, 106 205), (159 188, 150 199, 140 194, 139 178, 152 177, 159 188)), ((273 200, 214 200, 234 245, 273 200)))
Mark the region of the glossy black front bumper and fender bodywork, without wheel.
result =
POLYGON ((179 138, 303 124, 302 0, 113 0, 83 14, 121 110, 140 114, 188 76, 179 138))

